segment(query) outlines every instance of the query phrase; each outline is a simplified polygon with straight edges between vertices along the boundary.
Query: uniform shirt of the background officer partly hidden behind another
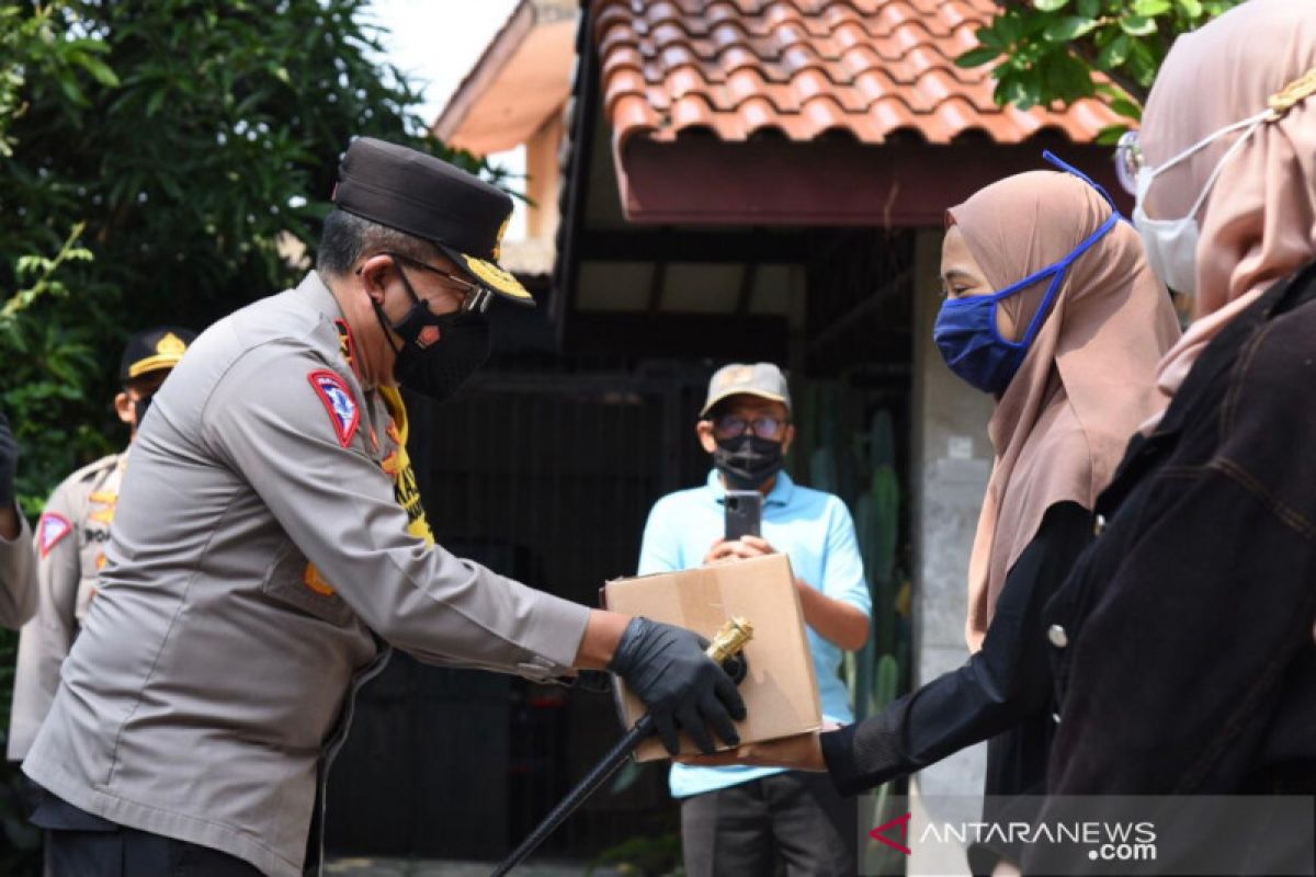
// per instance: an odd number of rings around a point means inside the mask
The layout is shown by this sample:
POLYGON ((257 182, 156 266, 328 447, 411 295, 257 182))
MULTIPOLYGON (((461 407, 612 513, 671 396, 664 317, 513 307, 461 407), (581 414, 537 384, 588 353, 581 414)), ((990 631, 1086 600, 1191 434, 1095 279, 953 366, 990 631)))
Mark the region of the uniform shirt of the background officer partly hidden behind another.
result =
POLYGON ((78 469, 50 494, 37 521, 37 615, 18 636, 18 665, 9 714, 9 760, 28 755, 59 688, 59 665, 96 596, 105 565, 109 525, 128 454, 113 454, 78 469))

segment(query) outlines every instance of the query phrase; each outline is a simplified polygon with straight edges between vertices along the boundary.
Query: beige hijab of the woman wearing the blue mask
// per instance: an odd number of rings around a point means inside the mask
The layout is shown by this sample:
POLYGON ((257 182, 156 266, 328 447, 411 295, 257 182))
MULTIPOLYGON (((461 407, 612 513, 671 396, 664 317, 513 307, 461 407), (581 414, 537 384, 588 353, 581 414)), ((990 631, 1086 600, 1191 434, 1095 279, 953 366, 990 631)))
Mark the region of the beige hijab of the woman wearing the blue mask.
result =
MULTIPOLYGON (((949 210, 994 289, 1059 262, 1109 216, 1092 187, 1054 171, 1007 178, 949 210)), ((1020 335, 1049 283, 1001 302, 1020 335)), ((1091 509, 1109 483, 1154 410, 1155 363, 1178 337, 1137 231, 1116 222, 1070 266, 988 425, 995 463, 969 561, 970 650, 982 647, 1005 575, 1046 509, 1066 500, 1091 509)))

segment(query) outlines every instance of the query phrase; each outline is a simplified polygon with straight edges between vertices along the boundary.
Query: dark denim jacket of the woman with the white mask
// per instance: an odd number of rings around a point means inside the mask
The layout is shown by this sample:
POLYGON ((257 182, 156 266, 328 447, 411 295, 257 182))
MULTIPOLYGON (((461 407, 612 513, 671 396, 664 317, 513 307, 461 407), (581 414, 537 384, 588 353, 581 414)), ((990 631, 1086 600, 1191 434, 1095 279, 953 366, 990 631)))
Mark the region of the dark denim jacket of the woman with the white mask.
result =
POLYGON ((1316 263, 1207 347, 1096 510, 1045 610, 1049 790, 1316 792, 1316 263))

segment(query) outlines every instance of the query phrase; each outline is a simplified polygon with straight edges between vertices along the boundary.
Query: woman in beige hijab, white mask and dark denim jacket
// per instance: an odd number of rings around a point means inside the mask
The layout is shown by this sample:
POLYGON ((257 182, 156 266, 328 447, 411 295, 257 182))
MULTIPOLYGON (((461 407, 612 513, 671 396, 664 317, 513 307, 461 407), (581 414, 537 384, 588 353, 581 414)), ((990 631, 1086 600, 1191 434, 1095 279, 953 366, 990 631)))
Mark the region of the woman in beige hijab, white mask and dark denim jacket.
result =
MULTIPOLYGON (((1316 9, 1252 0, 1175 42, 1121 146, 1149 259, 1195 321, 1048 607, 1069 643, 1057 795, 1316 794, 1313 92, 1316 9)), ((1311 873, 1309 811, 1237 809, 1220 844, 1196 806, 1158 814, 1162 873, 1311 873)))

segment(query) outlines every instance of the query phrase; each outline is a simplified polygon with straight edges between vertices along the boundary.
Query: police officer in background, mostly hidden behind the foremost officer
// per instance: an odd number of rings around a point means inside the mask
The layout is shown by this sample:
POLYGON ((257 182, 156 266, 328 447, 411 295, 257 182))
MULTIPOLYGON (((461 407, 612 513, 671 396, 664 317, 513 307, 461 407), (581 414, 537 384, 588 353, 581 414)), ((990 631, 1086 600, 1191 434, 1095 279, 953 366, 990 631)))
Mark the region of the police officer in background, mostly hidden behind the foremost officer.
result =
MULTIPOLYGON (((183 358, 196 333, 159 326, 128 341, 118 368, 114 412, 129 427, 129 444, 150 408, 151 397, 183 358)), ((21 760, 46 718, 59 686, 59 665, 96 594, 96 575, 105 565, 109 525, 128 468, 128 450, 111 454, 64 479, 37 521, 37 538, 21 564, 36 576, 37 615, 22 626, 18 665, 9 714, 9 759, 21 760)), ((17 555, 18 552, 13 552, 17 555)), ((8 567, 3 575, 21 572, 8 567)))

